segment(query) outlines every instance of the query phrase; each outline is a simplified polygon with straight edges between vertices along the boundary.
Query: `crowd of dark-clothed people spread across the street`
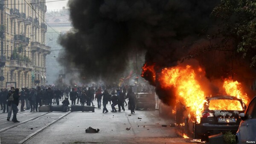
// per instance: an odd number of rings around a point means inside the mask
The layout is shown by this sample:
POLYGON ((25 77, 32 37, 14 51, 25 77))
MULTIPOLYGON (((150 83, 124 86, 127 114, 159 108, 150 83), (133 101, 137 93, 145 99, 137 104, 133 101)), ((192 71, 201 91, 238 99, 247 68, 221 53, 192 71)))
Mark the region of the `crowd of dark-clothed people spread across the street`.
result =
MULTIPOLYGON (((94 106, 94 99, 97 101, 98 109, 101 109, 103 105, 103 113, 108 112, 106 105, 111 104, 111 112, 117 112, 115 106, 118 105, 118 111, 121 109, 125 111, 125 106, 128 105, 131 113, 134 113, 135 108, 135 94, 134 87, 123 86, 118 88, 106 88, 105 86, 99 87, 78 87, 78 86, 37 86, 36 88, 22 87, 21 90, 15 87, 1 89, 0 92, 0 105, 3 112, 8 112, 7 121, 10 121, 13 112, 13 122, 17 121, 18 105, 20 104, 20 111, 30 110, 30 112, 38 112, 38 107, 42 105, 62 104, 67 106, 81 104, 84 106, 94 106), (128 99, 128 104, 125 99, 128 99), (101 104, 102 103, 102 104, 101 104)), ((145 89, 143 89, 144 91, 145 89)))

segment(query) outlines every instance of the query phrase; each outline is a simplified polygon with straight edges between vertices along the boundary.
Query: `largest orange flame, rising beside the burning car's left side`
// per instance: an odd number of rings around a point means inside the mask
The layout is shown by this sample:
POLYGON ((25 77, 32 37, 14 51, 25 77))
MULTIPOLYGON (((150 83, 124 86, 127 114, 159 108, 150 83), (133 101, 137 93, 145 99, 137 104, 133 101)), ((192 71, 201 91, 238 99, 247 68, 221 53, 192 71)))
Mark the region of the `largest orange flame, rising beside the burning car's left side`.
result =
POLYGON ((191 66, 165 68, 159 77, 163 88, 175 87, 176 98, 183 101, 189 112, 195 116, 197 123, 204 110, 206 98, 200 84, 195 80, 195 72, 191 66))

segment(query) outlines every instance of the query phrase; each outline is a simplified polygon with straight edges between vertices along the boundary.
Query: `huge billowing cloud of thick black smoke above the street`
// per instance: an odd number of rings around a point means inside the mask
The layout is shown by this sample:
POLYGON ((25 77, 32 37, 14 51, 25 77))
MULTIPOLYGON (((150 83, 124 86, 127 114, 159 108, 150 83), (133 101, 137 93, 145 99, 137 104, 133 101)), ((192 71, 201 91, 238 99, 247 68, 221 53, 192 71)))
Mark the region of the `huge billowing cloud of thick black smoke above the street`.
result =
MULTIPOLYGON (((207 78, 230 75, 230 69, 239 67, 233 67, 235 54, 223 51, 228 58, 221 52, 218 59, 218 54, 212 55, 214 49, 207 37, 215 32, 210 14, 219 1, 70 0, 75 32, 60 37, 60 44, 66 49, 65 60, 60 62, 67 70, 76 67, 85 78, 119 79, 131 55, 146 52, 145 63, 155 63, 157 72, 184 58, 196 58, 205 67, 207 78), (199 48, 208 53, 197 52, 199 48)), ((175 98, 167 97, 169 90, 161 89, 157 82, 151 84, 157 87, 160 99, 175 98)))

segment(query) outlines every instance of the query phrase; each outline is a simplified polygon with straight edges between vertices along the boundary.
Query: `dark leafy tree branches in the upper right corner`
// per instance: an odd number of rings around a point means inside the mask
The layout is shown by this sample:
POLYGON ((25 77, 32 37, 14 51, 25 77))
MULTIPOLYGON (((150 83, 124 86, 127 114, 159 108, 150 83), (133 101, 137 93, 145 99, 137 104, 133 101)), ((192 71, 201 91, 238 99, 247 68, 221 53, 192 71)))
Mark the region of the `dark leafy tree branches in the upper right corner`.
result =
POLYGON ((221 0, 212 11, 218 22, 218 33, 222 43, 232 43, 242 58, 256 64, 256 0, 221 0))

